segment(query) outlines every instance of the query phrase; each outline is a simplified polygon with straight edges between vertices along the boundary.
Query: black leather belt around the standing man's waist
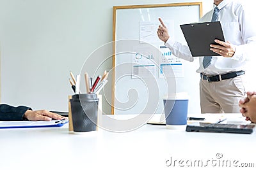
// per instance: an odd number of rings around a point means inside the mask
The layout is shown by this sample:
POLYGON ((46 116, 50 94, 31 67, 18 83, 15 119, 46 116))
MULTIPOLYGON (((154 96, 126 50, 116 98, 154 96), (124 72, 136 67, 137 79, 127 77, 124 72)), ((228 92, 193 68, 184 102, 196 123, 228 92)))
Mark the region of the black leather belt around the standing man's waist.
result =
POLYGON ((226 80, 229 78, 235 78, 236 76, 241 76, 243 74, 244 74, 244 71, 234 71, 231 73, 219 74, 216 76, 207 76, 204 73, 200 73, 200 76, 202 79, 211 82, 211 81, 221 81, 221 80, 226 80))

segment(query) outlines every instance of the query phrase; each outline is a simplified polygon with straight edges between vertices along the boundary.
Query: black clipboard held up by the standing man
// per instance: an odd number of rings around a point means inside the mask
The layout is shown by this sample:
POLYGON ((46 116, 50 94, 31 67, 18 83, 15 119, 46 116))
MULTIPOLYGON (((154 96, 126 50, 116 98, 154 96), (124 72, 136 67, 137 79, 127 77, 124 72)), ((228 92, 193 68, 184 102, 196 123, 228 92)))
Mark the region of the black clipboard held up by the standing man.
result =
POLYGON ((225 41, 220 21, 180 25, 193 57, 220 56, 210 50, 214 39, 225 41))

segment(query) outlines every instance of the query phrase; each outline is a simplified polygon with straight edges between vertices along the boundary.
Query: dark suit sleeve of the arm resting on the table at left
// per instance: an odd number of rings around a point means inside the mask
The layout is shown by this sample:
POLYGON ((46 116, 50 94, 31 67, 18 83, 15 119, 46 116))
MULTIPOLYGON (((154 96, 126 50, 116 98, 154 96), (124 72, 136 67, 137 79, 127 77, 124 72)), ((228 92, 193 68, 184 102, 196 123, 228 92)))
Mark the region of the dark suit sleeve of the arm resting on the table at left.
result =
POLYGON ((10 106, 8 104, 0 104, 0 120, 22 120, 24 113, 32 110, 26 106, 10 106))

